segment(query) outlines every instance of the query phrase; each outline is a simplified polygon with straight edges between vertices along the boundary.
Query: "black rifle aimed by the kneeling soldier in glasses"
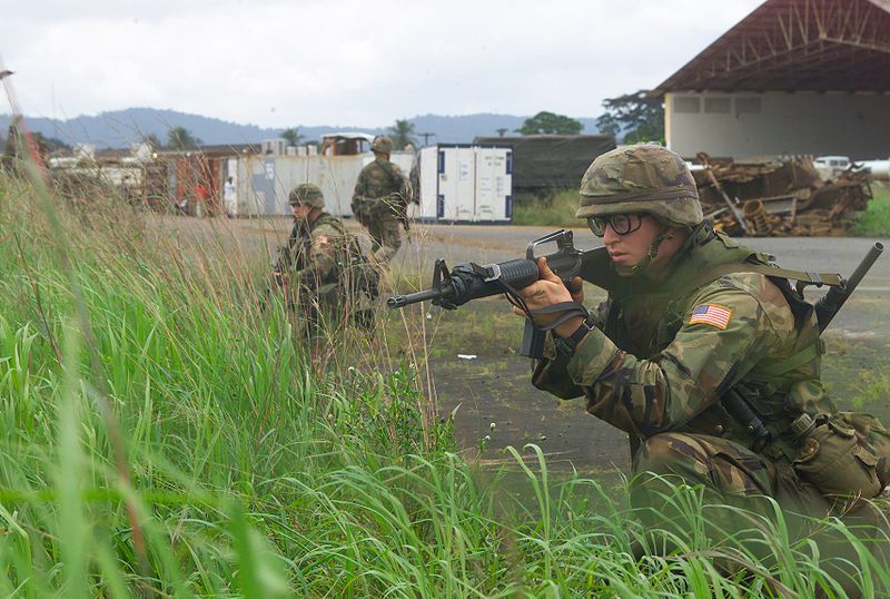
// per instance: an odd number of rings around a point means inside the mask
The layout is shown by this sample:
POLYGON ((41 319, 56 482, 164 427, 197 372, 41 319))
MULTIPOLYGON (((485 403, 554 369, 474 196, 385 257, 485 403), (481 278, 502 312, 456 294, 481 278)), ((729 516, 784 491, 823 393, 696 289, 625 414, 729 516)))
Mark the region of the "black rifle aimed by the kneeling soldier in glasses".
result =
POLYGON ((533 314, 525 305, 518 289, 525 288, 540 278, 535 249, 548 243, 556 244, 556 252, 544 256, 547 265, 566 285, 581 273, 585 252, 576 249, 571 230, 560 229, 528 244, 525 258, 500 262, 497 264, 458 264, 451 271, 444 258, 436 259, 433 267, 433 285, 429 289, 407 295, 394 295, 386 304, 400 308, 419 302, 432 301, 433 305, 445 310, 456 310, 472 300, 504 294, 515 306, 522 308, 528 318, 525 321, 521 354, 540 360, 543 357, 546 331, 573 316, 586 316, 586 311, 574 302, 561 304, 554 312, 564 312, 554 324, 541 327, 535 324, 533 314))

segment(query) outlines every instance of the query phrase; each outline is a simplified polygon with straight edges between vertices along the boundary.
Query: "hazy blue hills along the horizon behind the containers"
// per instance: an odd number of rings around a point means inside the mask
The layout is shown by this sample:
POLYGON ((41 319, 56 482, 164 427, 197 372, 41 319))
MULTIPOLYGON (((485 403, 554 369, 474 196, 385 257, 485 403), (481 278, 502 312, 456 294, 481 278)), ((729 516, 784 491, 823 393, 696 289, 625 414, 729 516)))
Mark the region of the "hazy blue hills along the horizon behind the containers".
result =
MULTIPOLYGON (((511 135, 522 127, 526 117, 513 115, 463 115, 438 116, 423 115, 409 119, 417 134, 432 132, 429 143, 468 144, 474 137, 496 136, 497 129, 507 129, 511 135)), ((9 127, 9 115, 0 115, 0 135, 6 135, 9 127)), ((580 118, 584 124, 584 132, 595 134, 594 118, 580 118)), ((280 128, 264 128, 257 125, 241 125, 226 120, 177 112, 176 110, 157 110, 154 108, 127 108, 101 112, 97 116, 80 116, 67 120, 50 118, 28 118, 33 131, 62 141, 73 144, 95 144, 99 148, 128 147, 148 135, 155 135, 161 141, 167 140, 167 131, 172 127, 185 127, 206 145, 221 144, 258 144, 264 139, 277 137, 290 125, 280 128)), ((385 127, 360 127, 356 125, 336 125, 322 127, 299 127, 306 140, 317 140, 323 134, 330 131, 365 131, 369 134, 386 132, 385 127)), ((423 137, 417 136, 423 143, 423 137)))

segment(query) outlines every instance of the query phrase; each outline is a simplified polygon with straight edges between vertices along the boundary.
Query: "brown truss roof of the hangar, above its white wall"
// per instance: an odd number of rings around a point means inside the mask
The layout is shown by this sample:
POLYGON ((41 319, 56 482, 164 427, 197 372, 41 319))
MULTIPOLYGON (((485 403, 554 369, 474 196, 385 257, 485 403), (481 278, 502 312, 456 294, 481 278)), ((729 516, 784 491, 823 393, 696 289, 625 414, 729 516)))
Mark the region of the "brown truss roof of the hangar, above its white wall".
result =
POLYGON ((890 91, 890 0, 768 0, 657 91, 890 91))

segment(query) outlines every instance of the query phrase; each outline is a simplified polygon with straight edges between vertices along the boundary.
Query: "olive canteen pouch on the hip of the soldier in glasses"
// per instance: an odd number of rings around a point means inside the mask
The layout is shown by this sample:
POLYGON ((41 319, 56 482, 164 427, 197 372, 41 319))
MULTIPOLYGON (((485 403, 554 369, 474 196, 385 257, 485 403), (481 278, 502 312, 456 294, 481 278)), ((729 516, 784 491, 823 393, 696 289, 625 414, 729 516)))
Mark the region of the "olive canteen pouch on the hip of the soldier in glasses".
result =
POLYGON ((883 489, 878 461, 874 449, 856 429, 842 419, 819 414, 801 436, 793 465, 801 479, 827 497, 872 499, 883 489))

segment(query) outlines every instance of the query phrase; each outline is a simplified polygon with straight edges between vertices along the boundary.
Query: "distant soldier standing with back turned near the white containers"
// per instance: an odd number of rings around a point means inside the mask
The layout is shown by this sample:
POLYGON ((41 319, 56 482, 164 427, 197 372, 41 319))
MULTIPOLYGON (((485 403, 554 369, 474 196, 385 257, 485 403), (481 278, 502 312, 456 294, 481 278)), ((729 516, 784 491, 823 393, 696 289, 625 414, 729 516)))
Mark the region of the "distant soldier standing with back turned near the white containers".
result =
POLYGON ((358 175, 352 206, 358 222, 368 228, 375 262, 382 264, 402 246, 398 225, 407 224, 405 209, 411 202, 411 189, 402 170, 389 161, 393 140, 375 137, 370 149, 374 161, 358 175))

